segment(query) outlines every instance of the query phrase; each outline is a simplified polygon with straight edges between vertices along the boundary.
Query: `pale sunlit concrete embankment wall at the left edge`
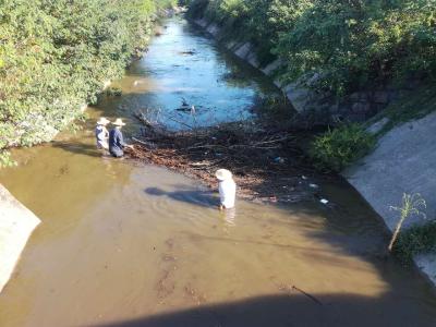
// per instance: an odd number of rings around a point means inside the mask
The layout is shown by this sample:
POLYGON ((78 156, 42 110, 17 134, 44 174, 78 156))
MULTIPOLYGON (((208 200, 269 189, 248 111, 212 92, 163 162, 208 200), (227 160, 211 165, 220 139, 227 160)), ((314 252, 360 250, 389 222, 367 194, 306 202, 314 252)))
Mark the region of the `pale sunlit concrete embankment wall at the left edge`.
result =
POLYGON ((38 217, 0 184, 0 292, 11 278, 28 238, 39 223, 38 217))

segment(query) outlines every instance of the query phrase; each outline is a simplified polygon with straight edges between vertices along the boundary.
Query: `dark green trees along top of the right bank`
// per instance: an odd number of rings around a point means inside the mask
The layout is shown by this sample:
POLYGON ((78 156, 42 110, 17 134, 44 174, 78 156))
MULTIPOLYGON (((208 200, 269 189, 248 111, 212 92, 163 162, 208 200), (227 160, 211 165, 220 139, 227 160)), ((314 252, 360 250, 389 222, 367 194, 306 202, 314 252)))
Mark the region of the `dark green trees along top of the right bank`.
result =
POLYGON ((433 0, 191 0, 206 16, 252 41, 264 63, 279 57, 287 82, 337 96, 408 76, 436 77, 433 0), (313 78, 312 78, 313 81, 313 78))

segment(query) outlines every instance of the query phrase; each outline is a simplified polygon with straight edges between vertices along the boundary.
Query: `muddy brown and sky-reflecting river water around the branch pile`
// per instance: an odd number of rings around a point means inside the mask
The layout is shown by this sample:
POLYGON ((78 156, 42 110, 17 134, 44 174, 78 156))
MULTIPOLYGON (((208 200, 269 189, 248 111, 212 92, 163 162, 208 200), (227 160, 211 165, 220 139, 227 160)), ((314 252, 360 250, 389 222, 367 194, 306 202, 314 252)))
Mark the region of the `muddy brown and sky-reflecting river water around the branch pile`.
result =
POLYGON ((171 20, 81 132, 15 150, 0 182, 43 223, 0 294, 0 326, 436 326, 429 284, 377 255, 383 225, 347 184, 323 185, 332 209, 239 201, 222 214, 197 182, 95 149, 101 114, 131 133, 146 107, 190 124, 249 117, 274 92, 261 80, 171 20), (222 77, 234 69, 240 81, 222 77), (174 113, 181 96, 204 113, 174 113))

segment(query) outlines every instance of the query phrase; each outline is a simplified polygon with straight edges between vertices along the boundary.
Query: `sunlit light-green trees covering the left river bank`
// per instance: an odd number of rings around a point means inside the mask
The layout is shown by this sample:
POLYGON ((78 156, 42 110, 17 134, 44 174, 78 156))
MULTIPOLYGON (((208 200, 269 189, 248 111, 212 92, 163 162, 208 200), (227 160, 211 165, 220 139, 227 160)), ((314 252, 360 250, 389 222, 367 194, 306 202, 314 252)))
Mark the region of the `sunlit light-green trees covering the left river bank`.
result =
POLYGON ((146 47, 159 0, 0 0, 0 166, 50 140, 146 47))

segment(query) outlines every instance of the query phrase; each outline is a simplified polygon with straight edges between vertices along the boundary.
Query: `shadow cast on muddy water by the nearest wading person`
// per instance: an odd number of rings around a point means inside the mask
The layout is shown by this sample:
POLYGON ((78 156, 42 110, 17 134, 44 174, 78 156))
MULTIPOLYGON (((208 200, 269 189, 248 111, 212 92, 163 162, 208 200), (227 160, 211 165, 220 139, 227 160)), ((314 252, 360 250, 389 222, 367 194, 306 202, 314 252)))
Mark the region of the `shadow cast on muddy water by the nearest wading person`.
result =
POLYGON ((210 190, 198 190, 198 189, 184 189, 177 191, 165 191, 159 187, 147 187, 144 190, 146 194, 153 196, 168 196, 172 199, 184 202, 202 207, 216 207, 219 202, 216 192, 210 190))

